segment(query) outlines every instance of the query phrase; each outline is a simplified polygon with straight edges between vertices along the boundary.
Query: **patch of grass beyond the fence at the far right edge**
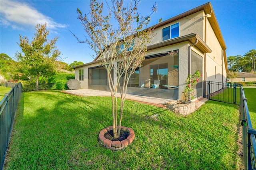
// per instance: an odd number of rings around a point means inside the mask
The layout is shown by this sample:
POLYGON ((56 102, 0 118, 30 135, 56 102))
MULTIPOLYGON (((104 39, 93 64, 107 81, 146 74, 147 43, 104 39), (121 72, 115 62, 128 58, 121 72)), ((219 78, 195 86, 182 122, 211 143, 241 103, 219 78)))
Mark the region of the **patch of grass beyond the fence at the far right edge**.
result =
POLYGON ((250 118, 252 121, 252 127, 256 128, 256 105, 255 105, 256 88, 245 87, 244 95, 247 98, 247 105, 250 113, 250 118))

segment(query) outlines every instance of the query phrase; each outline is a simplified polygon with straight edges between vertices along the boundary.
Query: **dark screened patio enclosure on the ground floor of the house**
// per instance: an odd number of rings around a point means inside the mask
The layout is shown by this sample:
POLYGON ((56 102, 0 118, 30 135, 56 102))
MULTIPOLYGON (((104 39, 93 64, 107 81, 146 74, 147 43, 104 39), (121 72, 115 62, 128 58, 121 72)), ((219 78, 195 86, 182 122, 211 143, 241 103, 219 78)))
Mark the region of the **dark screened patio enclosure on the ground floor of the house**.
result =
MULTIPOLYGON (((130 77, 127 93, 163 99, 178 99, 179 56, 167 53, 146 56, 142 66, 130 77)), ((89 68, 89 89, 109 91, 107 71, 102 66, 89 68)), ((112 72, 112 77, 115 77, 112 72)), ((120 79, 122 86, 122 78, 120 79)))

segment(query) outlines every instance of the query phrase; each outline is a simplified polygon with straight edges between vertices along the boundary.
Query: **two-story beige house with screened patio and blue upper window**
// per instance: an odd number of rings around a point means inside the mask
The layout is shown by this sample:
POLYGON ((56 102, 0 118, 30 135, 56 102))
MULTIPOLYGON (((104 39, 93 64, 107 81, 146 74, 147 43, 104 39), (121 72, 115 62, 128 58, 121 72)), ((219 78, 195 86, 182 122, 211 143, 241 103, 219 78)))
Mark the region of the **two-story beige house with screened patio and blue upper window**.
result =
MULTIPOLYGON (((210 2, 154 27, 155 36, 142 66, 131 76, 128 94, 181 100, 185 81, 196 70, 203 76, 194 87, 195 99, 203 95, 204 80, 226 82, 226 45, 210 2)), ((75 78, 81 88, 108 91, 106 69, 97 59, 74 67, 75 78)))

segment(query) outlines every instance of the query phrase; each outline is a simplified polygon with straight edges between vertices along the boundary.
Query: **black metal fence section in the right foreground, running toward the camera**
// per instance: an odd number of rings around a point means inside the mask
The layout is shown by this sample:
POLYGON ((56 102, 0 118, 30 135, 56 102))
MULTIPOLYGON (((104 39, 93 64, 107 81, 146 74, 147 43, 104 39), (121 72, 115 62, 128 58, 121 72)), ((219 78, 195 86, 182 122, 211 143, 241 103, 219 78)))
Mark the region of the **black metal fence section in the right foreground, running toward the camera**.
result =
POLYGON ((243 152, 244 152, 244 170, 256 169, 256 130, 252 128, 252 122, 249 115, 247 106, 247 99, 244 95, 244 89, 240 88, 240 113, 243 126, 243 152))

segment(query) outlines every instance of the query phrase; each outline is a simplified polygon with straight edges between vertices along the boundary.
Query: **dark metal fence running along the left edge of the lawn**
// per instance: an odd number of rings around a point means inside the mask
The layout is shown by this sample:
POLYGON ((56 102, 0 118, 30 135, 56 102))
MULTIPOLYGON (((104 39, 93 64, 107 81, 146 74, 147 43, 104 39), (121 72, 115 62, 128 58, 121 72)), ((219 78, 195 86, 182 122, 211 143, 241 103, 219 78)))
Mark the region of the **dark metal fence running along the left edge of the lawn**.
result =
MULTIPOLYGON (((10 84, 8 86, 11 86, 10 84)), ((4 99, 0 101, 0 169, 4 166, 4 158, 8 143, 10 140, 10 134, 12 131, 12 125, 14 121, 14 115, 18 106, 18 101, 22 93, 22 84, 14 84, 12 89, 5 94, 4 99)))

